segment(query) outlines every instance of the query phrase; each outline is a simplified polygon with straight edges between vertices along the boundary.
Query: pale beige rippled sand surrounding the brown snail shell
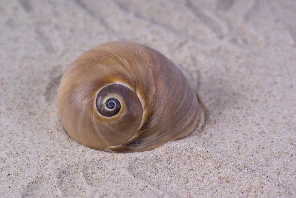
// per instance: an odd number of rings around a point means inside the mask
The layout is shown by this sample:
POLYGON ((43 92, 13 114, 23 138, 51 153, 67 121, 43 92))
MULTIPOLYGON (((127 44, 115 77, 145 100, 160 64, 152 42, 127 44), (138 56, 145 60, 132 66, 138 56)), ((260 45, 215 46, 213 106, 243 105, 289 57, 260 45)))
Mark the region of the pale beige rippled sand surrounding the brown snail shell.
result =
POLYGON ((0 0, 0 197, 295 197, 295 10, 295 0, 0 0), (144 153, 71 139, 59 81, 111 40, 180 65, 203 126, 144 153))

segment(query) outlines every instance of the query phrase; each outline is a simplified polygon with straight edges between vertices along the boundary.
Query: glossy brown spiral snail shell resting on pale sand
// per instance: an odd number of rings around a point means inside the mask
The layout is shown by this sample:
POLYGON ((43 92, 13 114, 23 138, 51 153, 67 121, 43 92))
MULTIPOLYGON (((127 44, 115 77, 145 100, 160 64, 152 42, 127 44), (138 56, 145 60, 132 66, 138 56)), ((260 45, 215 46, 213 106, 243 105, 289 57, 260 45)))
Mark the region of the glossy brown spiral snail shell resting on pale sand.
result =
POLYGON ((118 153, 182 138, 194 130, 200 113, 196 94, 169 59, 127 41, 82 53, 61 79, 57 105, 74 140, 118 153))

